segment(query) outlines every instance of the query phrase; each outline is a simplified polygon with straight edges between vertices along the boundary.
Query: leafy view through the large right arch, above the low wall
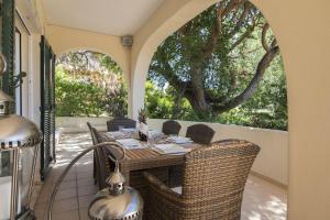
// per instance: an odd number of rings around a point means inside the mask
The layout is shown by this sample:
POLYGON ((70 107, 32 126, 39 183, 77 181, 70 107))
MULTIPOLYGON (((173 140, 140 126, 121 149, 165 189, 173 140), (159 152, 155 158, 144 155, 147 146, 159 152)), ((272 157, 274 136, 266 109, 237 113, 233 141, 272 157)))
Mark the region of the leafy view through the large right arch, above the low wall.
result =
POLYGON ((162 42, 151 62, 147 91, 165 92, 173 103, 163 108, 165 101, 154 103, 147 95, 147 105, 156 118, 287 130, 285 74, 275 36, 255 7, 230 2, 221 24, 212 21, 220 13, 218 3, 162 42))

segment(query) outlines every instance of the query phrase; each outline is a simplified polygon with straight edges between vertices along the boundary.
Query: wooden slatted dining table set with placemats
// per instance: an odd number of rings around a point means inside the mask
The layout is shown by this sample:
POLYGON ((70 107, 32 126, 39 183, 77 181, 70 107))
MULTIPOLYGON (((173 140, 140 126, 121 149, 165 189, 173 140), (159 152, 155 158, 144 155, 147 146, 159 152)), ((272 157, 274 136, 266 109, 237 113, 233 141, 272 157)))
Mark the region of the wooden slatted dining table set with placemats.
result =
MULTIPOLYGON (((103 132, 100 134, 101 140, 103 142, 113 142, 119 139, 136 139, 139 140, 139 135, 136 132, 128 133, 125 136, 114 138, 109 135, 109 132, 103 132)), ((160 139, 155 139, 154 143, 169 143, 166 135, 163 135, 160 139)), ((125 148, 125 157, 119 162, 119 168, 121 173, 125 177, 125 184, 134 187, 142 187, 143 176, 142 172, 150 172, 160 178, 164 183, 173 183, 175 179, 175 174, 169 176, 170 168, 178 167, 184 164, 185 154, 161 154, 155 151, 153 147, 146 146, 146 142, 141 142, 145 147, 143 148, 125 148)), ((185 143, 179 144, 185 148, 198 148, 201 147, 201 144, 198 143, 185 143)), ((121 152, 114 147, 109 145, 107 151, 114 155, 116 157, 120 157, 121 152)))

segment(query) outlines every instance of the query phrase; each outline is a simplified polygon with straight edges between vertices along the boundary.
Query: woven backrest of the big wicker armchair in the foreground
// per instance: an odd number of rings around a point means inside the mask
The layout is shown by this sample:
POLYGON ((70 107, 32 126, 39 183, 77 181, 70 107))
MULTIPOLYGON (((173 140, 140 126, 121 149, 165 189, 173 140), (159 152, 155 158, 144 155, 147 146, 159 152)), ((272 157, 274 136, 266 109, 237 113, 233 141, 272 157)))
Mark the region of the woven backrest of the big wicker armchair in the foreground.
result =
POLYGON ((258 152, 257 145, 241 140, 191 151, 185 156, 183 198, 219 219, 240 219, 244 186, 258 152))

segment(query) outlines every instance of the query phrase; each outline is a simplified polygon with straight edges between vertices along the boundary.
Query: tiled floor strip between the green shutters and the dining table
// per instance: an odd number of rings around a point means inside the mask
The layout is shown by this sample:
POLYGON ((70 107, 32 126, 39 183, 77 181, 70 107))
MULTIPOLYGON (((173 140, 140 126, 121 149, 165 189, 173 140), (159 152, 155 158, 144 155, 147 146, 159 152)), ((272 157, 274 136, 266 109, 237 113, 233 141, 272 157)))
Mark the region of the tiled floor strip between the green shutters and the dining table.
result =
MULTIPOLYGON (((66 165, 90 145, 88 133, 63 135, 57 145, 57 162, 45 182, 35 205, 37 219, 46 219, 46 207, 53 186, 66 165)), ((97 193, 92 179, 92 153, 85 155, 70 169, 56 195, 53 219, 79 220, 87 218, 89 201, 97 193)))

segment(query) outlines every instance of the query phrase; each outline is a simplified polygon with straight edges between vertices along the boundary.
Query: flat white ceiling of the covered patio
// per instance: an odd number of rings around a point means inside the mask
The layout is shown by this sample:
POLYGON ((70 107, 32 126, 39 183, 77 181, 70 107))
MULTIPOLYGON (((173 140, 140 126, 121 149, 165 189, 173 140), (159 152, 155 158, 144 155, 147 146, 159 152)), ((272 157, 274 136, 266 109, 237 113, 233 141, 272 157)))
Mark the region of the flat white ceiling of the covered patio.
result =
POLYGON ((134 34, 164 0, 43 0, 48 24, 111 35, 134 34))

